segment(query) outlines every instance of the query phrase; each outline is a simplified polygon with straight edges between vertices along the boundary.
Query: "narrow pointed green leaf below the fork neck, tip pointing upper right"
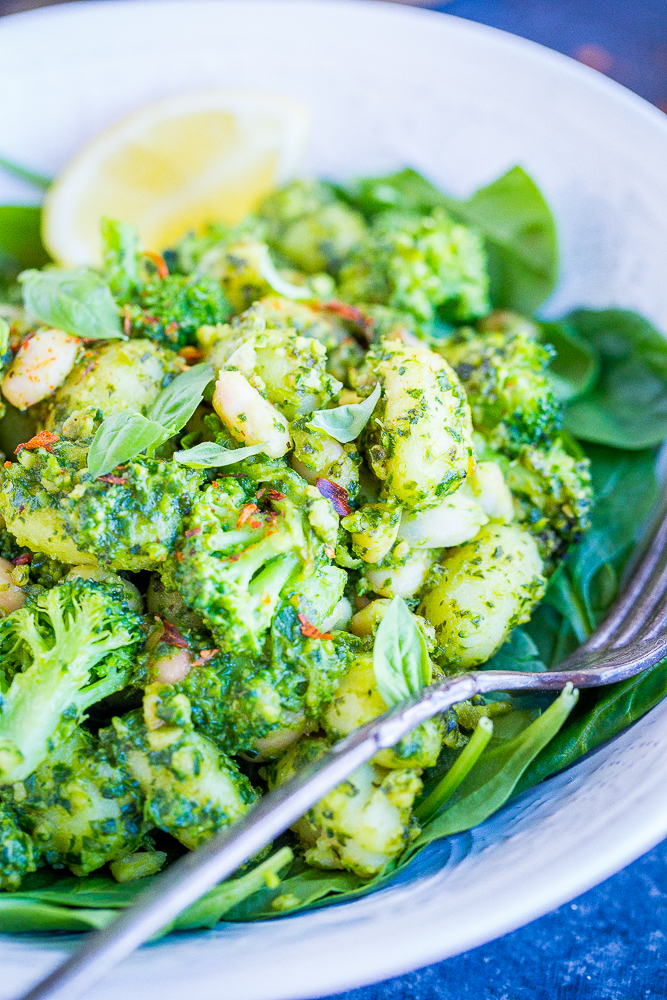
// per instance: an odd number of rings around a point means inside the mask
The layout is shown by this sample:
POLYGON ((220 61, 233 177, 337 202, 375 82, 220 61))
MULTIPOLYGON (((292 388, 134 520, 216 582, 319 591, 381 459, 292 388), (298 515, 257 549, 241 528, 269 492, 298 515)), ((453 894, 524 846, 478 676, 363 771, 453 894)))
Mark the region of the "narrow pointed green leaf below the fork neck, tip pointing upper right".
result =
POLYGON ((500 809, 531 761, 559 731, 577 698, 578 692, 568 684, 546 712, 518 736, 482 754, 449 800, 451 804, 426 824, 414 847, 470 830, 500 809))

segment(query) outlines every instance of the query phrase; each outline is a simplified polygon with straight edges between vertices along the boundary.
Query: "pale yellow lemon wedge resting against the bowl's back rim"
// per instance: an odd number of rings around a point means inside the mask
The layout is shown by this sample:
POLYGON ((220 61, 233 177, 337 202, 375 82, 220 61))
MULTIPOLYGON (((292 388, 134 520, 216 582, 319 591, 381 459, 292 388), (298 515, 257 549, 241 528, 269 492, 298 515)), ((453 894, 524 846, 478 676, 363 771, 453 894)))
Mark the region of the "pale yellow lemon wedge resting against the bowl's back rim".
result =
POLYGON ((209 222, 239 222, 294 175, 304 108, 272 94, 207 90, 158 101, 103 132, 44 203, 42 237, 66 266, 101 264, 100 220, 131 222, 162 250, 209 222))

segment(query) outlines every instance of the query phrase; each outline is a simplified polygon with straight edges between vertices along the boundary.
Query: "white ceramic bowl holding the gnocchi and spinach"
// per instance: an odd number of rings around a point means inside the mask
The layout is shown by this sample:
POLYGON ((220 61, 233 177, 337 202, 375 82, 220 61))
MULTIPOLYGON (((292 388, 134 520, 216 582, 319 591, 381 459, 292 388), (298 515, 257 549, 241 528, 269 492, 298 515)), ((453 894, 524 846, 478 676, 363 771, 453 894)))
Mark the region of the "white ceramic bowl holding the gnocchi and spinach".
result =
MULTIPOLYGON (((158 97, 274 90, 314 116, 308 172, 412 165, 465 195, 516 163, 560 228, 547 313, 637 309, 667 328, 667 120, 530 42, 457 18, 327 0, 112 0, 0 21, 0 155, 56 172, 158 97)), ((0 179, 0 203, 30 200, 0 179)), ((352 904, 143 949, 96 1000, 333 993, 474 947, 572 899, 667 834, 667 704, 482 827, 352 904)), ((0 997, 74 938, 5 938, 0 997)))

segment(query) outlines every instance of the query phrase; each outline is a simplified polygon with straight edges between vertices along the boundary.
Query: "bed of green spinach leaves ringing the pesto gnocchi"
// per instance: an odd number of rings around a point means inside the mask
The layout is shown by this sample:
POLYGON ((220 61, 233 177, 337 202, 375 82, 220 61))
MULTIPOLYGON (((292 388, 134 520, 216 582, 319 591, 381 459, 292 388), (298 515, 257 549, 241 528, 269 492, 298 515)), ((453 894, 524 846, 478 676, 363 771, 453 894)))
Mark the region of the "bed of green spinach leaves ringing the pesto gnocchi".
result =
MULTIPOLYGON (((519 167, 465 202, 446 197, 411 170, 364 180, 340 194, 362 211, 387 200, 406 212, 442 206, 474 226, 486 242, 491 298, 497 308, 533 314, 555 284, 553 220, 542 195, 519 167)), ((39 240, 39 211, 0 208, 0 285, 10 288, 21 270, 40 267, 47 259, 39 240)), ((655 503, 657 448, 667 435, 667 341, 646 320, 619 309, 579 309, 541 327, 545 342, 556 350, 553 383, 567 403, 566 429, 591 460, 596 505, 591 530, 552 577, 531 621, 513 632, 487 664, 490 668, 546 670, 590 635, 614 599, 638 526, 655 503)), ((159 425, 168 421, 164 415, 153 416, 159 442, 159 425)), ((354 419, 352 414, 343 416, 348 422, 354 419)), ((116 464, 114 460, 109 468, 116 464)), ((419 664, 415 670, 419 673, 419 664)), ((457 760, 454 751, 445 749, 438 765, 424 775, 425 790, 416 810, 422 826, 419 838, 376 878, 368 881, 349 872, 309 867, 295 856, 286 837, 268 860, 207 893, 165 933, 210 928, 222 918, 275 918, 351 900, 386 885, 433 840, 483 822, 513 796, 612 739, 665 694, 667 665, 658 664, 631 680, 582 692, 578 702, 567 690, 555 700, 546 695, 519 697, 516 707, 530 711, 538 705, 542 714, 519 732, 503 728, 503 717, 492 734, 491 727, 480 725, 457 760)), ((390 699, 391 692, 385 693, 385 700, 390 699)), ((28 875, 20 891, 0 896, 0 931, 100 928, 150 881, 118 884, 98 874, 74 878, 42 869, 28 875)))

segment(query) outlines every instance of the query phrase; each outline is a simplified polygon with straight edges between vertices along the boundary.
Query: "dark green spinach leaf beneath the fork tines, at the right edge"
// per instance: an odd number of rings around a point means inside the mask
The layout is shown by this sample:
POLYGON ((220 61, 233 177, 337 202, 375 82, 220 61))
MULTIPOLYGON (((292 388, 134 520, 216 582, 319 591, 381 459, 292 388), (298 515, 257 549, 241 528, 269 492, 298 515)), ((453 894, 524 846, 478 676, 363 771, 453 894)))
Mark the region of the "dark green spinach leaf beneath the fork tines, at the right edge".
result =
POLYGON ((662 701, 667 696, 667 660, 600 690, 596 704, 565 726, 533 760, 517 784, 516 795, 574 764, 662 701))

